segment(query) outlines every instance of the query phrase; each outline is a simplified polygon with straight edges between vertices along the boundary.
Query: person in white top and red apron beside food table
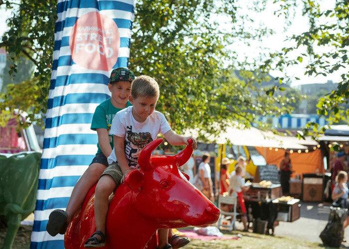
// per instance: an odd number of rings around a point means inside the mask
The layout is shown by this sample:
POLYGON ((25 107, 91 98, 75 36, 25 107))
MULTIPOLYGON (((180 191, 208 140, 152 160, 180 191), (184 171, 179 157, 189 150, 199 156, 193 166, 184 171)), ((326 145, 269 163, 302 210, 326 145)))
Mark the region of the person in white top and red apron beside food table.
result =
POLYGON ((242 168, 241 166, 235 167, 235 174, 232 174, 230 177, 230 185, 229 185, 229 195, 232 195, 233 192, 237 194, 237 199, 239 201, 240 209, 241 209, 241 222, 244 225, 244 232, 248 231, 248 221, 247 221, 247 210, 245 206, 245 200, 243 198, 243 192, 249 190, 249 186, 245 187, 245 180, 241 176, 242 168))

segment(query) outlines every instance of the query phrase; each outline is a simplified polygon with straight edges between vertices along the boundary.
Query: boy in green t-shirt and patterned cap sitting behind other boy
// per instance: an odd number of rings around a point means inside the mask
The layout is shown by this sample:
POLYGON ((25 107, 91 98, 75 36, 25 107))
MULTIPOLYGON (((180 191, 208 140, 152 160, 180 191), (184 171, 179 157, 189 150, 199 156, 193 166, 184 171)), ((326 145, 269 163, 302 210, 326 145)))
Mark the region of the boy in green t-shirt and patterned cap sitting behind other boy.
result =
POLYGON ((109 134, 110 127, 115 114, 131 106, 128 99, 134 79, 134 73, 127 68, 113 69, 108 84, 112 97, 96 108, 91 123, 91 129, 96 130, 98 135, 96 156, 76 183, 66 210, 56 209, 49 215, 46 230, 51 236, 56 236, 58 233, 65 234, 67 225, 81 206, 88 190, 98 181, 99 176, 108 167, 107 157, 114 147, 113 135, 109 134))

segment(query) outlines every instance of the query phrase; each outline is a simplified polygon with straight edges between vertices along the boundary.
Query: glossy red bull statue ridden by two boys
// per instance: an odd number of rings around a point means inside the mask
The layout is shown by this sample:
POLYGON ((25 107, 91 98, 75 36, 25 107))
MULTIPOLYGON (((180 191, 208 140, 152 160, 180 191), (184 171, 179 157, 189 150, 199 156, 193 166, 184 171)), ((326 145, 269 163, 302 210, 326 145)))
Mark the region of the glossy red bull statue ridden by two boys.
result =
MULTIPOLYGON (((130 172, 110 198, 104 248, 154 249, 158 229, 205 227, 217 222, 219 209, 178 170, 192 154, 192 141, 174 156, 152 155, 162 141, 158 138, 142 150, 140 169, 130 172)), ((95 187, 68 226, 66 249, 83 249, 84 242, 96 231, 95 187)))

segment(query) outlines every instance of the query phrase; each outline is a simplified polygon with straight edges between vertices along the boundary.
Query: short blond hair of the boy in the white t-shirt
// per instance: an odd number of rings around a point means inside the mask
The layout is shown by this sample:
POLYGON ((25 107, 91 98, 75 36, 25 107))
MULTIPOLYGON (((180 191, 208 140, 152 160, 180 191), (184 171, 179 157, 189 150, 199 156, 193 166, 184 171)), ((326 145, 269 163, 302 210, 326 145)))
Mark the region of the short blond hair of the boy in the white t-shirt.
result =
POLYGON ((160 96, 158 82, 152 77, 141 75, 132 82, 131 95, 134 99, 138 97, 157 97, 160 96))

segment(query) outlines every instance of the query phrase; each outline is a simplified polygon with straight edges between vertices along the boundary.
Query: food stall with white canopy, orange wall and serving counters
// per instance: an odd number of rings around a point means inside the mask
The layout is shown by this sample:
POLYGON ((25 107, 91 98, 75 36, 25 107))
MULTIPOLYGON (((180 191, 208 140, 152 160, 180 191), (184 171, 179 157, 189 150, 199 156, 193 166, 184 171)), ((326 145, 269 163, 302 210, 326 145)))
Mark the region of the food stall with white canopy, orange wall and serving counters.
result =
MULTIPOLYGON (((247 158, 246 172, 249 173, 250 189, 244 193, 244 200, 248 210, 249 222, 255 222, 254 231, 268 233, 274 231, 278 221, 293 222, 300 217, 299 199, 282 197, 279 180, 278 165, 285 151, 291 154, 294 176, 291 181, 296 187, 295 192, 302 193, 301 175, 305 173, 322 173, 322 153, 317 142, 311 139, 299 140, 295 137, 276 135, 271 131, 262 131, 254 127, 243 128, 232 124, 219 137, 205 136, 215 141, 216 151, 216 187, 219 193, 220 161, 223 157, 236 159, 244 155, 247 158), (239 149, 238 149, 239 148, 239 149), (242 153, 241 153, 242 152, 242 153)), ((233 161, 228 171, 234 170, 236 161, 233 161)), ((224 198, 218 195, 219 198, 224 198)))

